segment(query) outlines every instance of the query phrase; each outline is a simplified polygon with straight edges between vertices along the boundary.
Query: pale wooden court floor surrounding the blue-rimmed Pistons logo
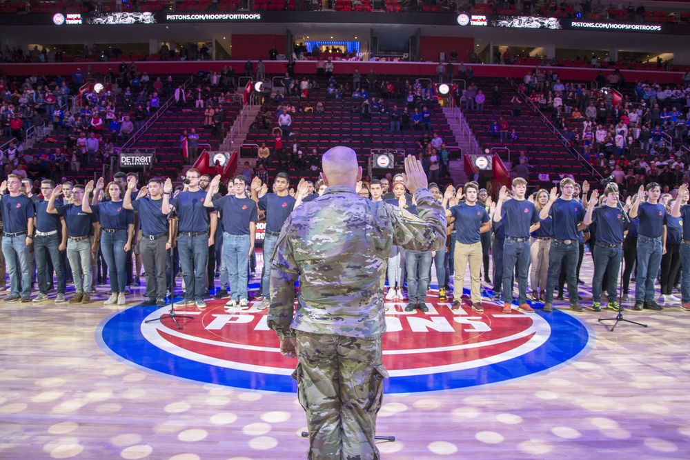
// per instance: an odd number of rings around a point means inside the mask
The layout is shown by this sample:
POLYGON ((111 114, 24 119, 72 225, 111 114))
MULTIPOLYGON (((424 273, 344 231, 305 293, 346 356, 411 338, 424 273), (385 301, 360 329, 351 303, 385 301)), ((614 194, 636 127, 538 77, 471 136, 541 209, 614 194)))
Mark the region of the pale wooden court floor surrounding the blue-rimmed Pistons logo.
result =
MULTIPOLYGON (((125 308, 103 306, 106 289, 86 306, 0 302, 0 459, 306 458, 295 394, 175 379, 103 350, 99 325, 144 299, 138 288, 125 308)), ((614 332, 596 321, 611 314, 564 312, 589 331, 576 359, 488 386, 386 396, 377 434, 396 441, 378 445, 382 459, 690 459, 690 313, 678 307, 626 312, 649 327, 614 332)))

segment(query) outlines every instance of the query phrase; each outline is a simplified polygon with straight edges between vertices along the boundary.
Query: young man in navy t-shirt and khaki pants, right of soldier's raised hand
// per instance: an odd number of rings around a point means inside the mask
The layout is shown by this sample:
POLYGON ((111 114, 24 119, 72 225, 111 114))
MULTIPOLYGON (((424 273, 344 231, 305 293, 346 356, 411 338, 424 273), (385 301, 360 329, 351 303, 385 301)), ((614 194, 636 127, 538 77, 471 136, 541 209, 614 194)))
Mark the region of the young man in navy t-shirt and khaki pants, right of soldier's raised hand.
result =
MULTIPOLYGON (((444 201, 451 199, 452 190, 446 190, 444 201)), ((489 213, 484 206, 477 203, 479 185, 468 182, 464 187, 464 203, 456 204, 446 210, 446 218, 455 219, 455 254, 453 254, 455 268, 455 283, 453 290, 462 295, 462 281, 465 268, 469 262, 471 279, 472 310, 483 312, 482 307, 482 242, 481 234, 491 230, 489 213)), ((460 296, 455 296, 453 310, 460 308, 460 296)))

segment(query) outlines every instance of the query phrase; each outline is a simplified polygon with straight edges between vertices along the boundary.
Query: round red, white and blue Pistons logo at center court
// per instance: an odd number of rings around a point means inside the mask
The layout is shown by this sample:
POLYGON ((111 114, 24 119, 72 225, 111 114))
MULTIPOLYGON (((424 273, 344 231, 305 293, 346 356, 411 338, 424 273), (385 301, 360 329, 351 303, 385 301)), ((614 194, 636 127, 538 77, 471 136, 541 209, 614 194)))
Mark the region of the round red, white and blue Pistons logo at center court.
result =
MULTIPOLYGON (((427 302, 428 312, 386 303, 383 363, 389 394, 460 390, 530 377, 579 359, 593 334, 566 312, 524 314, 484 302, 484 313, 427 302)), ((175 323, 167 308, 135 307, 101 323, 97 341, 116 359, 195 383, 293 392, 296 359, 283 357, 266 325, 266 310, 231 310, 211 301, 203 311, 180 308, 193 319, 175 323)))

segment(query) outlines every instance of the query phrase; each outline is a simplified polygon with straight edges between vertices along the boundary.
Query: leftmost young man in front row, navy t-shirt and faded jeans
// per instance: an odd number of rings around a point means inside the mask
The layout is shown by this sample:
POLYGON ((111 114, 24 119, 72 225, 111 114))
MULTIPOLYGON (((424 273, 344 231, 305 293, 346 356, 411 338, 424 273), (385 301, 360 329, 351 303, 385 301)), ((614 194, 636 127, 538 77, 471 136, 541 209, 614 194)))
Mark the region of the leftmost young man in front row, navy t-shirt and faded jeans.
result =
POLYGON ((10 275, 12 293, 4 300, 11 302, 30 301, 32 273, 29 264, 29 246, 34 237, 33 201, 21 193, 21 177, 10 174, 0 185, 0 206, 2 206, 2 252, 10 275), (6 194, 9 192, 9 194, 6 194), (17 267, 19 259, 19 267, 17 267), (19 291, 19 273, 21 273, 21 292, 19 291))

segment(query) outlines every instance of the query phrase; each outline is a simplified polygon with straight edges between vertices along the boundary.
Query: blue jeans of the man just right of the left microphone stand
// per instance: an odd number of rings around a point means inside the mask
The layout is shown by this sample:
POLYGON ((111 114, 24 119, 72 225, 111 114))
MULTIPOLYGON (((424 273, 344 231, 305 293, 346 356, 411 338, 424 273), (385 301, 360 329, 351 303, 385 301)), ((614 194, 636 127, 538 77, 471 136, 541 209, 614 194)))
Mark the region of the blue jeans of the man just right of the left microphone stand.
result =
POLYGON ((195 237, 180 234, 177 239, 177 250, 182 266, 185 301, 204 300, 206 264, 208 263, 208 234, 199 234, 195 237))

